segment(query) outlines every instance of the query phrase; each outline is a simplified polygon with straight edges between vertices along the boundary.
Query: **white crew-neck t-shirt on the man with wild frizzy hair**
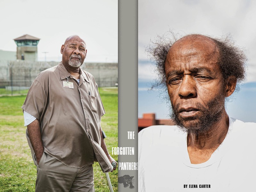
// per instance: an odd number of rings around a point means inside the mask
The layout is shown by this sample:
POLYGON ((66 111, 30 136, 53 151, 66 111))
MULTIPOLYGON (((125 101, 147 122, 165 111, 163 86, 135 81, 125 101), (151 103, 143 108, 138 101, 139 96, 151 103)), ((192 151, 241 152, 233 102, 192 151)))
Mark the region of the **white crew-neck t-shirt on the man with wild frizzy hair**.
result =
POLYGON ((227 136, 210 159, 191 164, 187 133, 167 125, 143 129, 138 140, 139 192, 256 191, 255 135, 255 123, 229 118, 227 136))

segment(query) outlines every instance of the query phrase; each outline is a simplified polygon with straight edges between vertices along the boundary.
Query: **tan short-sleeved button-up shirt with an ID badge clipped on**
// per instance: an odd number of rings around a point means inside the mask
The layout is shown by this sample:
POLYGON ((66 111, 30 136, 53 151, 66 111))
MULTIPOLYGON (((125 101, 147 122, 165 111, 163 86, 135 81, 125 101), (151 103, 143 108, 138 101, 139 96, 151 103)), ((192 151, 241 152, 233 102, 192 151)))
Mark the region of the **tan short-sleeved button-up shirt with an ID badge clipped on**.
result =
MULTIPOLYGON (((62 62, 46 69, 33 81, 21 108, 39 120, 44 151, 49 155, 80 168, 93 164, 94 151, 103 172, 113 169, 100 147, 105 110, 90 73, 80 69, 78 84, 62 62)), ((28 144, 33 151, 29 138, 28 144)))

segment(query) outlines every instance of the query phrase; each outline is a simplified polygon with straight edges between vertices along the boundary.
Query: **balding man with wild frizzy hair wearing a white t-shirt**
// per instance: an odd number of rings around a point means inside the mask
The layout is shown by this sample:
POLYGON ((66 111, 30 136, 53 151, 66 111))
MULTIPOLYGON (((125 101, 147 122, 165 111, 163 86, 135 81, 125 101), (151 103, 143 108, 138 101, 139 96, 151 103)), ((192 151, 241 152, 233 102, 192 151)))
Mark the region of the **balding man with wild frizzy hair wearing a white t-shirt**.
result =
POLYGON ((230 35, 172 33, 148 52, 175 125, 139 132, 139 191, 252 191, 256 124, 225 107, 246 78, 244 49, 230 35))

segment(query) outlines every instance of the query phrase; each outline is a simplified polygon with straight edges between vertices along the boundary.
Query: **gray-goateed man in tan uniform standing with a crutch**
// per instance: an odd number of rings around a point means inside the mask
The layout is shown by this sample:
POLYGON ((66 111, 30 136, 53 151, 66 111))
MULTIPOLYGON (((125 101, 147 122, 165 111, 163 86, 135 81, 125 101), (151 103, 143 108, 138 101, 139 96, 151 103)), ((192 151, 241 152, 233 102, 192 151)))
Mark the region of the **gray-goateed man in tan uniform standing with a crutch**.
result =
POLYGON ((36 191, 91 192, 94 160, 103 172, 112 171, 115 161, 102 137, 105 110, 93 76, 80 68, 84 40, 70 36, 60 52, 60 64, 36 77, 22 106, 36 191))

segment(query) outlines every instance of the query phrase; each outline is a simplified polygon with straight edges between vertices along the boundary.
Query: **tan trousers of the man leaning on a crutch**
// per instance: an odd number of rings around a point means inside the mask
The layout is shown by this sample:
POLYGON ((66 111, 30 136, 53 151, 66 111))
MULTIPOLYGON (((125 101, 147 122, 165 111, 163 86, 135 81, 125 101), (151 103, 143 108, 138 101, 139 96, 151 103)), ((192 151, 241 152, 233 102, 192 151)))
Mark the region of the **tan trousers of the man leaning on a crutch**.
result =
POLYGON ((91 164, 82 168, 69 167, 44 152, 37 165, 36 192, 94 192, 93 182, 91 164))

